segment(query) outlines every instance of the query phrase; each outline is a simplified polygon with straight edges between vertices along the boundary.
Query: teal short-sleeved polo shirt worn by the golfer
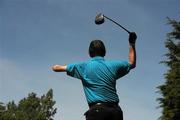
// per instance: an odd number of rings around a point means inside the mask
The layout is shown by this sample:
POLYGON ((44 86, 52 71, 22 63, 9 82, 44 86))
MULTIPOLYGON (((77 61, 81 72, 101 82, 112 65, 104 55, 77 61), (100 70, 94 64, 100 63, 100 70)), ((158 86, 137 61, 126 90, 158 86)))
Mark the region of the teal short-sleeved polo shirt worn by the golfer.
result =
POLYGON ((119 102, 116 80, 131 69, 127 61, 96 56, 86 62, 67 65, 67 74, 82 81, 87 102, 119 102))

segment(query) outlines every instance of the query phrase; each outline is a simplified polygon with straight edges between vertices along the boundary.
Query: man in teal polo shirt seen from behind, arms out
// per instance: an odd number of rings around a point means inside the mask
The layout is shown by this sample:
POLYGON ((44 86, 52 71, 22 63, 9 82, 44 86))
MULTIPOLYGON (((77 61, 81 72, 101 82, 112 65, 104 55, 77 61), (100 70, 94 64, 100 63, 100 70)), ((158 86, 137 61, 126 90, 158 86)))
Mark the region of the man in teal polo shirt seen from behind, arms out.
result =
POLYGON ((55 72, 67 72, 68 75, 82 81, 89 110, 86 120, 123 120, 118 105, 116 80, 136 67, 136 33, 129 34, 129 62, 105 60, 106 49, 101 40, 94 40, 89 46, 92 59, 86 62, 54 65, 55 72))

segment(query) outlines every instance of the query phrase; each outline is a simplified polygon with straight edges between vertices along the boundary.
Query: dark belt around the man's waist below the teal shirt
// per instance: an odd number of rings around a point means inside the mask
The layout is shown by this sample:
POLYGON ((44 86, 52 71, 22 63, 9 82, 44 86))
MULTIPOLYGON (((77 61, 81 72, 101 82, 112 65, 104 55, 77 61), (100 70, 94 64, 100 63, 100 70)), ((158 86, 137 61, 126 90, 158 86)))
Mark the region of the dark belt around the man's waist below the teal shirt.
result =
POLYGON ((95 102, 95 103, 90 103, 89 108, 92 107, 118 107, 118 102, 95 102))

